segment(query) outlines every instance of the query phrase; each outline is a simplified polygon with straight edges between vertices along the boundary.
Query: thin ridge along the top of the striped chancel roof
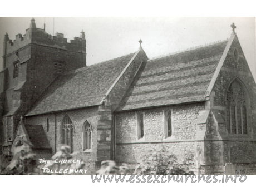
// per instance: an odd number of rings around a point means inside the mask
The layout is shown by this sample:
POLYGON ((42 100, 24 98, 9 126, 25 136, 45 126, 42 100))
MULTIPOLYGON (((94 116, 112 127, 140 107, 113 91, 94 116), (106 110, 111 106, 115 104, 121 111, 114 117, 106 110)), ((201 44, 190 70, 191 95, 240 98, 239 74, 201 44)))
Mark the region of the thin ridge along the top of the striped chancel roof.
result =
POLYGON ((186 52, 186 51, 193 51, 193 50, 196 50, 196 49, 198 49, 198 48, 208 47, 208 46, 215 45, 215 44, 218 44, 218 43, 223 43, 223 42, 228 41, 228 40, 229 40, 229 38, 227 38, 227 40, 214 41, 214 42, 205 43, 205 44, 199 45, 199 46, 189 47, 189 48, 186 48, 186 49, 184 49, 184 50, 179 50, 179 51, 175 51, 175 52, 171 52, 171 53, 166 53, 166 54, 164 54, 164 55, 152 57, 152 58, 150 58, 148 61, 152 61, 152 60, 157 60, 157 59, 159 59, 159 58, 164 58, 164 57, 173 56, 173 55, 176 55, 176 54, 179 54, 179 53, 183 53, 183 52, 186 52))

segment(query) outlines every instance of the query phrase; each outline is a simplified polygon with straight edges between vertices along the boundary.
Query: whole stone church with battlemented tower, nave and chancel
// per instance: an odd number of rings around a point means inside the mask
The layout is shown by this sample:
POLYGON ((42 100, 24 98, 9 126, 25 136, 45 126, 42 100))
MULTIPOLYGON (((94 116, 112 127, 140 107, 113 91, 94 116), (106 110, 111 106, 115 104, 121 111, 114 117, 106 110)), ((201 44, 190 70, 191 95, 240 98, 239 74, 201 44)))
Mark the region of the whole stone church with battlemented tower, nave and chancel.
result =
MULTIPOLYGON (((38 157, 61 145, 91 169, 102 160, 136 165, 165 146, 192 154, 203 174, 256 174, 256 85, 235 25, 228 40, 149 59, 141 47, 86 65, 85 33, 70 42, 35 19, 3 42, 0 147, 25 134, 38 157)), ((90 46, 90 45, 89 45, 90 46)))

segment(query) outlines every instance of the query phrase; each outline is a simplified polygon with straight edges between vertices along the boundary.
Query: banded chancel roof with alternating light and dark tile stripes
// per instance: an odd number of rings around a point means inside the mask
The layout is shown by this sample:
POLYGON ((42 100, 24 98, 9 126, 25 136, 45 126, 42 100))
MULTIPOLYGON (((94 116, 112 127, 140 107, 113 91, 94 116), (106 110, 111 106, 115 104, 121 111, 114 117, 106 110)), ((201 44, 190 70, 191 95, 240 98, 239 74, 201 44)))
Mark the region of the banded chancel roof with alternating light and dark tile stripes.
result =
POLYGON ((227 41, 149 60, 117 111, 205 100, 227 41))

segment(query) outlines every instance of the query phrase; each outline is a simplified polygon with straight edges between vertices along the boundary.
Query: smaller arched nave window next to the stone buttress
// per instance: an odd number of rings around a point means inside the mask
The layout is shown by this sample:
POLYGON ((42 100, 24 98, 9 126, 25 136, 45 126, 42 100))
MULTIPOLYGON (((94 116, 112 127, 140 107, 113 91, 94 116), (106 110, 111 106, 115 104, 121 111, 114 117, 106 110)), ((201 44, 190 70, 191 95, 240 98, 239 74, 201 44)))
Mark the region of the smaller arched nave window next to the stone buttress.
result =
POLYGON ((92 149, 92 128, 88 121, 83 124, 82 131, 83 151, 90 150, 92 149))

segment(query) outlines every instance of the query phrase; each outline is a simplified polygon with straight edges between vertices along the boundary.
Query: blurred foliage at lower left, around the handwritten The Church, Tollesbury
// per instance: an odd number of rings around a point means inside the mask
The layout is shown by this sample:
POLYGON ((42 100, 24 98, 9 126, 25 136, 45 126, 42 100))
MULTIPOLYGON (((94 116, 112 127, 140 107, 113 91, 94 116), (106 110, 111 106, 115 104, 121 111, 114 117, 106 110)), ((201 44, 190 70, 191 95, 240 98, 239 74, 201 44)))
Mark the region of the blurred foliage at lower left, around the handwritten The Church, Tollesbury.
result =
POLYGON ((69 146, 63 145, 46 164, 37 164, 36 154, 32 152, 32 146, 26 140, 26 136, 18 136, 13 144, 12 158, 6 168, 3 168, 1 175, 77 175, 75 171, 70 173, 69 170, 81 170, 85 166, 83 161, 72 161, 71 163, 61 163, 62 160, 76 160, 77 152, 70 154, 69 146), (57 161, 55 161, 57 160, 57 161), (43 173, 42 168, 57 170, 58 173, 43 173), (60 170, 68 170, 68 173, 60 173, 60 170))

